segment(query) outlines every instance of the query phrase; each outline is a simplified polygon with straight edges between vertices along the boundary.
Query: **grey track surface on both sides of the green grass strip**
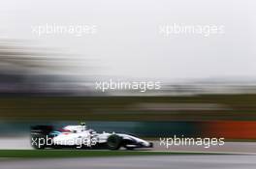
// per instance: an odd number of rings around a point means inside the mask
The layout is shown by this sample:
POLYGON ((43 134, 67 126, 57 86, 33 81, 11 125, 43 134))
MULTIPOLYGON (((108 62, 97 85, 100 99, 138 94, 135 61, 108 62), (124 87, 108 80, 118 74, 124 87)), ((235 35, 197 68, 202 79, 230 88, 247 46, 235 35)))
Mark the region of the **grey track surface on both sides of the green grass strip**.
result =
MULTIPOLYGON (((0 149, 31 149, 29 137, 1 137, 0 149)), ((167 151, 155 142, 154 151, 167 151)), ((0 158, 1 169, 254 169, 256 143, 229 142, 223 147, 172 146, 175 152, 253 153, 253 155, 144 155, 80 158, 0 158)))

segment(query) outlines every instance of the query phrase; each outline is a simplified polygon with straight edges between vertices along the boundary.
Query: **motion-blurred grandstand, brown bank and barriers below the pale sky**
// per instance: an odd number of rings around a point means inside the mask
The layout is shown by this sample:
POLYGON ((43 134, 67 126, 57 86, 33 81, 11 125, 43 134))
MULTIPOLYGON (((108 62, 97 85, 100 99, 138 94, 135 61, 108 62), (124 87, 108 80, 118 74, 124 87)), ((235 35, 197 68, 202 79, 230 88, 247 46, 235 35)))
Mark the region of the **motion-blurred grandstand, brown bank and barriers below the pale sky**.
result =
MULTIPOLYGON (((0 126, 5 128, 1 129, 2 136, 16 133, 14 127, 26 130, 28 126, 20 126, 22 123, 84 119, 110 124, 131 122, 133 128, 127 131, 151 138, 256 138, 254 83, 163 82, 161 90, 139 92, 141 96, 129 91, 102 93, 95 90, 95 80, 108 77, 90 70, 88 60, 68 56, 71 54, 56 49, 43 52, 43 48, 27 42, 0 43, 0 126), (88 67, 87 73, 79 71, 80 65, 88 67)), ((115 124, 112 129, 118 128, 121 125, 115 124)))

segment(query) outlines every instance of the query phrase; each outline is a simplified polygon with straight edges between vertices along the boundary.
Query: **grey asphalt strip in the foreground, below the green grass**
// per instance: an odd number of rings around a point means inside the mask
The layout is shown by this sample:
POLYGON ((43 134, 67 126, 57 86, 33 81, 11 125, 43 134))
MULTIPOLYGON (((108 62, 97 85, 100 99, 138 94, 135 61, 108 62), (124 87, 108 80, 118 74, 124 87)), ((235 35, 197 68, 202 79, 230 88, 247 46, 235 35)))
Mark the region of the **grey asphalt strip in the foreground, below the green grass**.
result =
POLYGON ((56 159, 0 159, 1 169, 255 169, 256 155, 148 155, 56 159))

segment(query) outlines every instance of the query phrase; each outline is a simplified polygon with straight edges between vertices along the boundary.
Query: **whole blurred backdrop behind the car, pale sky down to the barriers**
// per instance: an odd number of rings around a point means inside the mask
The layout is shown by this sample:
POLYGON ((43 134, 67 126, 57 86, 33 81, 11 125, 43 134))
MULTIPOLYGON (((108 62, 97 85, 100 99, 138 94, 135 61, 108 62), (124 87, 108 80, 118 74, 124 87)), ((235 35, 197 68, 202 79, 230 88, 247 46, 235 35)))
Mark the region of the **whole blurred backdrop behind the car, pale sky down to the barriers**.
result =
POLYGON ((254 7, 238 0, 1 2, 0 139, 27 136, 31 125, 85 121, 148 139, 254 141, 254 7), (173 23, 225 29, 163 37, 159 26, 173 23), (34 32, 47 25, 95 30, 34 32), (159 81, 161 88, 95 89, 109 79, 159 81))

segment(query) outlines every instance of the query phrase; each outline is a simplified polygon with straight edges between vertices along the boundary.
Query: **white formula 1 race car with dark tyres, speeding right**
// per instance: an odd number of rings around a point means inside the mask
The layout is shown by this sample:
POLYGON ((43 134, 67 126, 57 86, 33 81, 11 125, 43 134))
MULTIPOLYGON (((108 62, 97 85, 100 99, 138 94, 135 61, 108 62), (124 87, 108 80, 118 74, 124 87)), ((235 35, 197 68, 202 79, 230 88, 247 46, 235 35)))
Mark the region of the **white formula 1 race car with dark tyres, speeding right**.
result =
POLYGON ((79 126, 66 126, 54 130, 50 126, 31 127, 31 146, 35 149, 76 148, 76 149, 109 149, 127 150, 135 148, 152 148, 153 144, 141 138, 125 133, 97 133, 88 129, 85 123, 79 126))

